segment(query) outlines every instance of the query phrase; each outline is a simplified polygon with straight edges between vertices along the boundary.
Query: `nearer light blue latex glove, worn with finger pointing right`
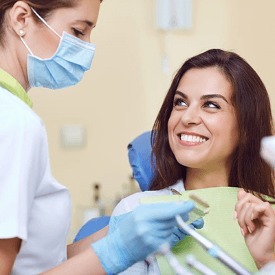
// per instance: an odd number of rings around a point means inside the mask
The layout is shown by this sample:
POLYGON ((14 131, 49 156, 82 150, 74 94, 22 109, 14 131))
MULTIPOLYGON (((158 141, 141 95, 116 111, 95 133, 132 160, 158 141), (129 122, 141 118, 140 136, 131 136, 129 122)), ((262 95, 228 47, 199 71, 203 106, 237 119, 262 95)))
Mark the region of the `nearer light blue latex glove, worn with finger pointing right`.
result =
POLYGON ((175 216, 180 214, 184 221, 188 221, 188 212, 194 208, 192 201, 142 204, 117 218, 120 219, 120 226, 100 241, 92 243, 91 247, 107 274, 118 274, 145 259, 163 243, 173 245, 173 232, 177 226, 175 216))

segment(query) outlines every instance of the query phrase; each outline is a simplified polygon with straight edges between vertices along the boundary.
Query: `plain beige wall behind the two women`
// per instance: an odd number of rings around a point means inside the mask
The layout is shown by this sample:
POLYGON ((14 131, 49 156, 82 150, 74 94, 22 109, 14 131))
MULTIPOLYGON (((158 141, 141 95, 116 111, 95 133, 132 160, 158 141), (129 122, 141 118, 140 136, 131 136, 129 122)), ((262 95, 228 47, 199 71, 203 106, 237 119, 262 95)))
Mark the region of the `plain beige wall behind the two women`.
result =
POLYGON ((131 174, 126 146, 151 129, 170 80, 186 58, 212 47, 236 50, 259 72, 275 100, 273 0, 194 0, 192 29, 170 33, 156 30, 154 6, 153 0, 105 0, 91 35, 96 57, 83 81, 61 91, 30 91, 47 127, 52 173, 72 194, 71 235, 81 226, 77 206, 91 201, 91 183, 102 183, 109 204, 122 192, 131 174), (168 76, 162 72, 165 52, 168 76), (85 126, 87 146, 65 150, 59 144, 61 125, 75 123, 85 126))

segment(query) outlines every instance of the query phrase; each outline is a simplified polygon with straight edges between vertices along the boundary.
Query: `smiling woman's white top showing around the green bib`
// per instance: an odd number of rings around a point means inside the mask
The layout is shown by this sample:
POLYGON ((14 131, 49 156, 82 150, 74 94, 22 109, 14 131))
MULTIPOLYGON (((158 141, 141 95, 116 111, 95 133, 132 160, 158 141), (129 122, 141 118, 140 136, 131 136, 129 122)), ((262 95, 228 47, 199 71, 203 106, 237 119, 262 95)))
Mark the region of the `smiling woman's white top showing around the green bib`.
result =
MULTIPOLYGON (((173 188, 177 190, 178 192, 185 191, 184 189, 184 183, 183 181, 177 181, 177 184, 174 184, 173 186, 170 186, 170 188, 173 188)), ((118 203, 117 206, 115 206, 115 209, 113 210, 113 216, 118 216, 120 214, 124 214, 126 212, 133 211, 137 206, 140 205, 140 198, 144 197, 156 197, 156 196, 163 196, 163 195, 173 195, 173 192, 171 192, 168 189, 162 189, 162 190, 156 190, 156 191, 145 191, 145 192, 137 192, 133 195, 130 195, 129 197, 126 197, 118 203)), ((138 263, 135 263, 131 267, 129 267, 127 270, 124 270, 124 272, 121 272, 122 275, 141 275, 141 274, 148 274, 148 272, 153 271, 155 275, 160 275, 159 267, 157 263, 154 263, 153 265, 147 265, 146 261, 140 261, 138 263)))

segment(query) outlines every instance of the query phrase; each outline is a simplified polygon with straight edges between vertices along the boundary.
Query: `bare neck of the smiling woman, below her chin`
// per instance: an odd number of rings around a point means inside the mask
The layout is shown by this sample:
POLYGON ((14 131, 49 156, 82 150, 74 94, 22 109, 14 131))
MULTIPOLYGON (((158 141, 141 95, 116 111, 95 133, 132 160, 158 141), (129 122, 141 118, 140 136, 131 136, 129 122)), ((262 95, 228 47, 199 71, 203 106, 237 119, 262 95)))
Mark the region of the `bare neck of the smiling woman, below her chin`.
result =
POLYGON ((184 181, 186 190, 228 186, 229 175, 225 169, 203 170, 188 167, 186 172, 186 180, 184 181))

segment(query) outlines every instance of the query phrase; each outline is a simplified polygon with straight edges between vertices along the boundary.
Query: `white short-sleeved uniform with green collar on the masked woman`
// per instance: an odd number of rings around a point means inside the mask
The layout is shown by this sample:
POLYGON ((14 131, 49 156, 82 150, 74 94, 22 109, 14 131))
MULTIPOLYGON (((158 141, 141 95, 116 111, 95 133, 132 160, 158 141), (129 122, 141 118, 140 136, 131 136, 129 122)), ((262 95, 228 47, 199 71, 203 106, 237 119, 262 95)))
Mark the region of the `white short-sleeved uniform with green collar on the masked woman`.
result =
POLYGON ((52 177, 45 126, 25 90, 3 70, 0 85, 0 239, 22 239, 12 274, 34 275, 67 259, 71 197, 52 177))

